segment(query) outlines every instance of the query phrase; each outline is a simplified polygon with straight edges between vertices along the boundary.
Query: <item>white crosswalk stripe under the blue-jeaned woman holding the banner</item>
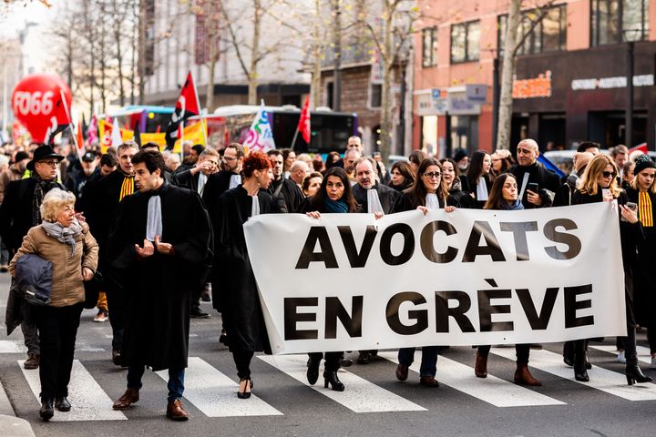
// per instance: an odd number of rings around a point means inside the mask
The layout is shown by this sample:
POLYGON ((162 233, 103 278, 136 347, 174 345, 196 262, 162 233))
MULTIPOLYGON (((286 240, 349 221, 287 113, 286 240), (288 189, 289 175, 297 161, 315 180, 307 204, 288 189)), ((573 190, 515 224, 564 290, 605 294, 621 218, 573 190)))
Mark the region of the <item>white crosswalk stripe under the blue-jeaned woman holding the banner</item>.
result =
MULTIPOLYGON (((397 352, 378 352, 378 356, 398 364, 397 352)), ((421 352, 415 351, 415 361, 410 369, 419 373, 420 367, 421 352)), ((490 374, 487 375, 487 378, 477 378, 471 367, 442 356, 437 360, 436 380, 440 384, 445 384, 497 407, 565 404, 565 402, 549 398, 537 391, 525 389, 490 374)))

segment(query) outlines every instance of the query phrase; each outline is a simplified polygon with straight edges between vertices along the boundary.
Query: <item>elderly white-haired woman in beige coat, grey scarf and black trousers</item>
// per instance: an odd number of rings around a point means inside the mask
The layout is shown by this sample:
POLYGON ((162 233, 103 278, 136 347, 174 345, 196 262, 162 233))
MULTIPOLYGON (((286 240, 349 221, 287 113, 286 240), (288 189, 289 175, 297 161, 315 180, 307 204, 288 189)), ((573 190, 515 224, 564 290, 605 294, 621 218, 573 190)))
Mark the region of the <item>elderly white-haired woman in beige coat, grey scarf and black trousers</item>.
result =
POLYGON ((68 382, 73 367, 77 327, 85 300, 83 281, 93 278, 98 247, 87 223, 75 217, 75 196, 59 188, 46 194, 41 204, 43 222, 29 229, 23 245, 9 264, 34 253, 52 262, 50 304, 33 307, 41 341, 41 410, 45 421, 59 412, 70 411, 68 382))

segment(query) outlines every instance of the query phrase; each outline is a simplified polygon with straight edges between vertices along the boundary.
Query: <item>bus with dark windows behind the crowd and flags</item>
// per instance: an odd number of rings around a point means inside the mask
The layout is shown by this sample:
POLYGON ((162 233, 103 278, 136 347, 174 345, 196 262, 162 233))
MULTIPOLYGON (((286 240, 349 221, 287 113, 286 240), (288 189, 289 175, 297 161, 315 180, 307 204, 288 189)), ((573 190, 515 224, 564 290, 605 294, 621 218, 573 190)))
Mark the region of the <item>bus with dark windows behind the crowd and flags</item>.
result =
MULTIPOLYGON (((348 138, 357 135, 357 116, 354 113, 317 108, 310 113, 310 144, 306 144, 299 134, 292 145, 301 117, 301 109, 294 106, 264 107, 264 109, 272 126, 276 148, 293 148, 296 153, 325 156, 333 150, 343 153, 348 138)), ((260 106, 255 105, 218 107, 213 114, 191 117, 187 123, 205 120, 210 144, 217 148, 225 148, 231 142, 244 142, 253 118, 259 110, 260 106)))

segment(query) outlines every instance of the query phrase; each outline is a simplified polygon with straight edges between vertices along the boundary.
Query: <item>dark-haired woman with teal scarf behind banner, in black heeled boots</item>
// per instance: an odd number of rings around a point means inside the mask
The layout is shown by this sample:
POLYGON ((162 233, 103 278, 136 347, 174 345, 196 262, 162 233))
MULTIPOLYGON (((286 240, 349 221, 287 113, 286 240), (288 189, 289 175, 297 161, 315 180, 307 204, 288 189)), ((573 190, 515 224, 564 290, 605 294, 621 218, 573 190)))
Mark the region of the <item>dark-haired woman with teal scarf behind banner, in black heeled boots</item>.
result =
MULTIPOLYGON (((319 191, 312 198, 305 199, 299 212, 305 213, 313 219, 319 219, 322 213, 353 213, 362 212, 362 210, 355 202, 351 182, 346 172, 343 168, 333 167, 326 171, 319 191)), ((311 352, 308 355, 310 356, 307 370, 308 382, 313 385, 319 379, 319 365, 322 358, 325 358, 323 386, 327 388, 330 384, 334 391, 344 391, 344 385, 337 377, 343 351, 325 352, 325 354, 311 352)))

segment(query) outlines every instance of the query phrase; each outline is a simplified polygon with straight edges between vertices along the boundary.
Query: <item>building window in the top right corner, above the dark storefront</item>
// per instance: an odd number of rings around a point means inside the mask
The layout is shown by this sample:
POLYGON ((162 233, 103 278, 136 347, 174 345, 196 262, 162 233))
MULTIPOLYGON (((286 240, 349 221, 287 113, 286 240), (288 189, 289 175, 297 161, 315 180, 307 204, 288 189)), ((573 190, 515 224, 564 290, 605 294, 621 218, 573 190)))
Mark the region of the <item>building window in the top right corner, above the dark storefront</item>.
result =
POLYGON ((592 46, 647 39, 649 0, 592 0, 590 30, 592 46))

